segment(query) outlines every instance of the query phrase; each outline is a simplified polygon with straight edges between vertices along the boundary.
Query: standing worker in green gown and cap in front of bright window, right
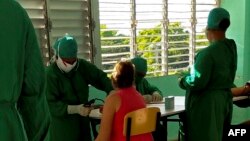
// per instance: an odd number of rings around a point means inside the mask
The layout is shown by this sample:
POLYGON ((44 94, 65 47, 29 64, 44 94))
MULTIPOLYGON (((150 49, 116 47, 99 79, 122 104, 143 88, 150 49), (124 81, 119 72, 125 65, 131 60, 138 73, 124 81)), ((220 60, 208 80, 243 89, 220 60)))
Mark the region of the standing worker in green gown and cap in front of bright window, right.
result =
POLYGON ((234 40, 226 38, 229 12, 212 9, 206 34, 210 45, 199 51, 190 74, 180 80, 186 89, 186 134, 188 141, 222 141, 231 122, 232 93, 237 68, 234 40))

